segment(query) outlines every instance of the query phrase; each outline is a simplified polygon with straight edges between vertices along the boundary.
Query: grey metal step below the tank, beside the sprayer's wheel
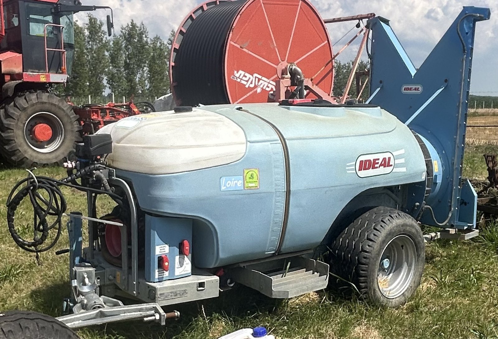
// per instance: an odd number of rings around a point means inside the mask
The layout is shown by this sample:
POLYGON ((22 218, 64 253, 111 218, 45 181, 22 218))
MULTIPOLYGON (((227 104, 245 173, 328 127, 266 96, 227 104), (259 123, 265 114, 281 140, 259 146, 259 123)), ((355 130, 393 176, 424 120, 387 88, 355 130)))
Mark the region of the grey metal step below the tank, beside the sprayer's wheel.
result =
POLYGON ((236 268, 230 274, 270 298, 292 298, 327 287, 329 265, 299 256, 236 268))

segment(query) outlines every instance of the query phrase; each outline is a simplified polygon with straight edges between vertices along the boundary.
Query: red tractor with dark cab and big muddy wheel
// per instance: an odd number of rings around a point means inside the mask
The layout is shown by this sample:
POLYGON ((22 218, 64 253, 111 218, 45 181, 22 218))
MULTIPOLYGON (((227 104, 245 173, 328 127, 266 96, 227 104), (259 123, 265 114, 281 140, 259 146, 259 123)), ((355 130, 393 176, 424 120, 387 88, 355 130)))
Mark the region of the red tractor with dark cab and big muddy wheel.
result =
MULTIPOLYGON (((0 153, 22 167, 60 163, 81 138, 73 106, 51 92, 71 74, 79 0, 0 0, 0 153)), ((112 12, 111 12, 112 13, 112 12)), ((112 15, 107 17, 109 35, 112 15)))

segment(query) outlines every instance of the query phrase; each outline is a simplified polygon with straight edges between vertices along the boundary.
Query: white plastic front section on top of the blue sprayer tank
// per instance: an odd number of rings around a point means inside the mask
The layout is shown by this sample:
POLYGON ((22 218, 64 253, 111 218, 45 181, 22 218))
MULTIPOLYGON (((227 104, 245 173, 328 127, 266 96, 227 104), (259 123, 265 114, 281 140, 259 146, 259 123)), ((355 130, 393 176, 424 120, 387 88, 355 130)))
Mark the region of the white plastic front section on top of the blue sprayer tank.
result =
POLYGON ((100 129, 111 134, 110 166, 171 174, 234 163, 246 154, 246 135, 230 119, 200 108, 122 119, 100 129))

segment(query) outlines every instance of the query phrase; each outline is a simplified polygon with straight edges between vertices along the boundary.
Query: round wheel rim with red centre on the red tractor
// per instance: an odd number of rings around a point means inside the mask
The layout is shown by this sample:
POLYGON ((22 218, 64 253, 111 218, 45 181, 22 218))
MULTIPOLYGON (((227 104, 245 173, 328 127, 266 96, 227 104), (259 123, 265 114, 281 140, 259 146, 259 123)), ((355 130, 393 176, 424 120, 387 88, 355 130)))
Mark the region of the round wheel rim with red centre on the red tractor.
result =
POLYGON ((40 153, 50 153, 62 145, 64 127, 59 118, 52 113, 39 112, 26 121, 24 138, 33 150, 40 153), (40 133, 40 131, 42 132, 40 133))

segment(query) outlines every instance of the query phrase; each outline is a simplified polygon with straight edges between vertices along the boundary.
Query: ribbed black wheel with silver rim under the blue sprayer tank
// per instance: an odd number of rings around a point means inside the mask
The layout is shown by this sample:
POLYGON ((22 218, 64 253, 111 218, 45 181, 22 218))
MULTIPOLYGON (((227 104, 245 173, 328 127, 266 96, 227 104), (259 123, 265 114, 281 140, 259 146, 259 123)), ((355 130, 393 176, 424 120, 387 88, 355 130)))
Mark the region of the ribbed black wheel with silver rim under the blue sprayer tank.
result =
POLYGON ((331 246, 331 272, 382 307, 406 303, 420 285, 424 264, 419 225, 408 214, 387 207, 360 216, 331 246))

